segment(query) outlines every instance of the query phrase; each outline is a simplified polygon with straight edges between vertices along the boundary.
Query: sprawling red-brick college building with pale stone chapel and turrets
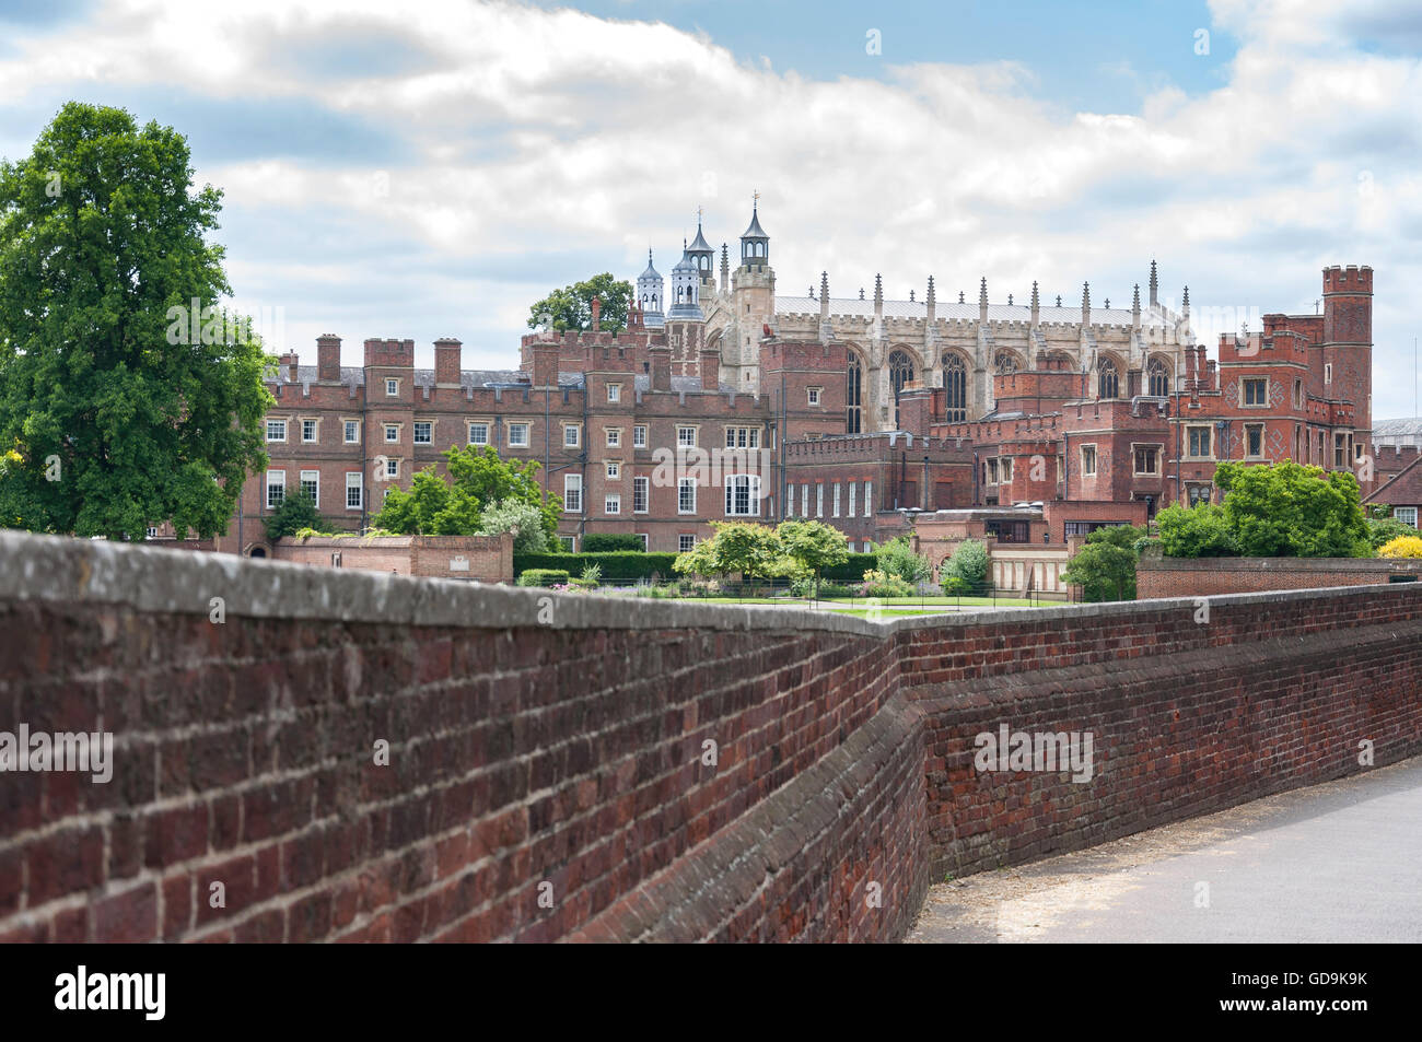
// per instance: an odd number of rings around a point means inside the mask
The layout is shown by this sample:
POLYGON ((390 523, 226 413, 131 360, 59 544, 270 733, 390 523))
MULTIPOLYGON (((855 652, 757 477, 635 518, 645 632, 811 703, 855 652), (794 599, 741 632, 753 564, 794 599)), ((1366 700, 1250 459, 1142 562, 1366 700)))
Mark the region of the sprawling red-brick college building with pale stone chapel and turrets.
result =
MULTIPOLYGON (((776 297, 769 237, 752 212, 732 273, 698 225, 667 291, 648 256, 629 328, 522 338, 519 368, 465 370, 435 341, 417 370, 410 340, 367 340, 343 367, 340 338, 316 365, 289 351, 269 374, 270 466, 243 490, 219 549, 250 552, 289 489, 317 498, 331 529, 368 527, 451 445, 540 463, 563 499, 559 535, 634 533, 687 549, 708 522, 811 516, 856 549, 912 530, 910 515, 1079 503, 1052 510, 1052 543, 1116 520, 1095 505, 1214 496, 1223 459, 1354 466, 1369 455, 1368 267, 1324 272, 1320 316, 1270 314, 1223 337, 1219 360, 1159 299, 1155 263, 1130 308, 975 306, 819 293, 776 297), (838 499, 836 499, 838 493, 838 499), (1095 510, 1095 513, 1094 513, 1095 510), (1081 515, 1081 516, 1076 516, 1081 515)), ((1385 466, 1379 461, 1379 466, 1385 466)), ((1402 466, 1399 461, 1391 473, 1402 466)), ((1365 490, 1371 490, 1365 489, 1365 490)), ((1136 510, 1128 512, 1135 516, 1136 510)))

